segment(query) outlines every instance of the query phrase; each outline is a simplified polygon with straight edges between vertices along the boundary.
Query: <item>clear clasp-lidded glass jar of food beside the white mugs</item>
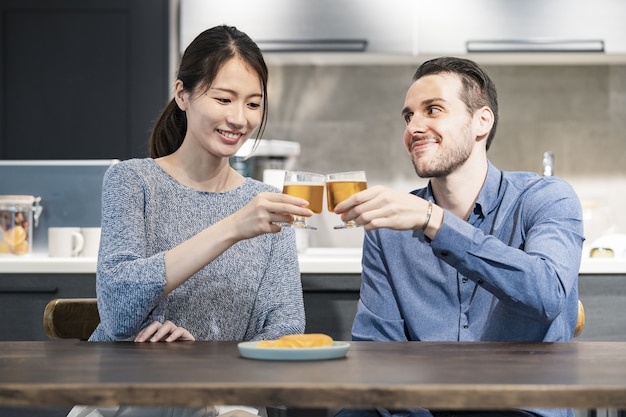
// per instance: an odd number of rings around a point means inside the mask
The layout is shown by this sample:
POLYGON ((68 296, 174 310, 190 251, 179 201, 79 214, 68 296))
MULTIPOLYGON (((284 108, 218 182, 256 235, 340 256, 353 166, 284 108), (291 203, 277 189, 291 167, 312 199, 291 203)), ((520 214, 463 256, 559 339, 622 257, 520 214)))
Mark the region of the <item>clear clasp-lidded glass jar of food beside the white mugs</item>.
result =
POLYGON ((27 255, 33 248, 42 207, 41 197, 32 195, 0 196, 0 255, 27 255))

